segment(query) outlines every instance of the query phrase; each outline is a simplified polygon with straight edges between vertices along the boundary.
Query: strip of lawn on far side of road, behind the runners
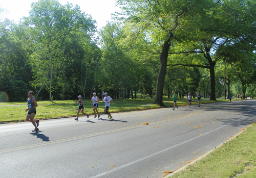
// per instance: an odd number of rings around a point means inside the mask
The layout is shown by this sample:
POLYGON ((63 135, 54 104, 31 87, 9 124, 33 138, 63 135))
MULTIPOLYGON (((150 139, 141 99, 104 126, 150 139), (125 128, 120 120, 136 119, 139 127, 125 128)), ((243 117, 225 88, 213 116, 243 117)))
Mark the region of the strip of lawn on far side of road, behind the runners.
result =
MULTIPOLYGON (((219 100, 219 99, 218 99, 219 100)), ((36 108, 36 119, 57 118, 57 117, 75 117, 78 109, 78 100, 53 100, 53 101, 37 101, 38 107, 36 108)), ((137 99, 114 99, 111 103, 110 112, 125 112, 136 111, 144 109, 160 108, 158 105, 153 104, 154 98, 137 98, 137 99)), ((221 99, 219 101, 222 101, 221 99)), ((216 101, 202 100, 201 104, 212 103, 216 101)), ((167 107, 173 107, 172 98, 163 98, 163 103, 167 107)), ((194 105, 197 105, 197 99, 192 100, 194 105)), ((178 106, 187 105, 186 98, 178 98, 178 106)), ((26 119, 27 102, 9 102, 0 103, 0 122, 14 122, 23 121, 26 119)), ((93 105, 90 99, 83 100, 84 112, 93 114, 93 105)), ((104 103, 99 102, 99 113, 103 113, 104 103)))

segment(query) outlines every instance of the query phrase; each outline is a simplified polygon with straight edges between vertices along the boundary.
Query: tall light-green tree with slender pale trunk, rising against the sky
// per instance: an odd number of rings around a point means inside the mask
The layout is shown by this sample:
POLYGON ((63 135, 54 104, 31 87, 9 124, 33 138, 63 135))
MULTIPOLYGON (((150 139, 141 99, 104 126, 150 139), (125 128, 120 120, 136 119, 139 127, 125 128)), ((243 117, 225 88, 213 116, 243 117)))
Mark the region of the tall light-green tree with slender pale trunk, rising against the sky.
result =
POLYGON ((84 31, 88 39, 92 38, 95 21, 82 13, 77 5, 61 6, 58 1, 40 0, 32 3, 30 16, 25 22, 30 27, 31 38, 36 44, 31 58, 36 78, 33 84, 39 87, 45 85, 51 100, 52 91, 58 87, 58 79, 63 74, 65 41, 72 33, 84 31))

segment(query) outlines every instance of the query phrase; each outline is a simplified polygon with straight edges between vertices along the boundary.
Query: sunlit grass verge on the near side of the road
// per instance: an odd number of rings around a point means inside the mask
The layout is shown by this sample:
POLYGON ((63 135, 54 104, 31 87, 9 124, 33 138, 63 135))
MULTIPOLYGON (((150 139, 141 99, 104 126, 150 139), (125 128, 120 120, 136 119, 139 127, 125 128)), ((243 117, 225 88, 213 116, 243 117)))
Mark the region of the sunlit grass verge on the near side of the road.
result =
POLYGON ((173 173, 172 178, 256 177, 256 124, 210 152, 201 160, 173 173))

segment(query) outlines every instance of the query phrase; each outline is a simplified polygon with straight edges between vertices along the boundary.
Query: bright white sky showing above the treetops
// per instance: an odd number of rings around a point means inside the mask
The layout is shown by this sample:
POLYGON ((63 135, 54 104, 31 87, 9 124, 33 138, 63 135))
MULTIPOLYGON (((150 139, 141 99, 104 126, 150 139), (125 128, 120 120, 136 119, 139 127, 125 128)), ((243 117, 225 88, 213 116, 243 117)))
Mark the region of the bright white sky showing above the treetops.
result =
MULTIPOLYGON (((23 16, 29 16, 29 10, 31 10, 31 3, 35 3, 38 0, 1 0, 0 6, 5 9, 9 14, 5 14, 5 17, 19 21, 19 18, 23 16)), ((61 5, 67 4, 67 2, 73 5, 80 6, 82 12, 90 14, 97 22, 98 29, 106 25, 106 21, 111 21, 111 13, 115 11, 120 12, 120 9, 115 7, 116 0, 58 0, 61 5)))

